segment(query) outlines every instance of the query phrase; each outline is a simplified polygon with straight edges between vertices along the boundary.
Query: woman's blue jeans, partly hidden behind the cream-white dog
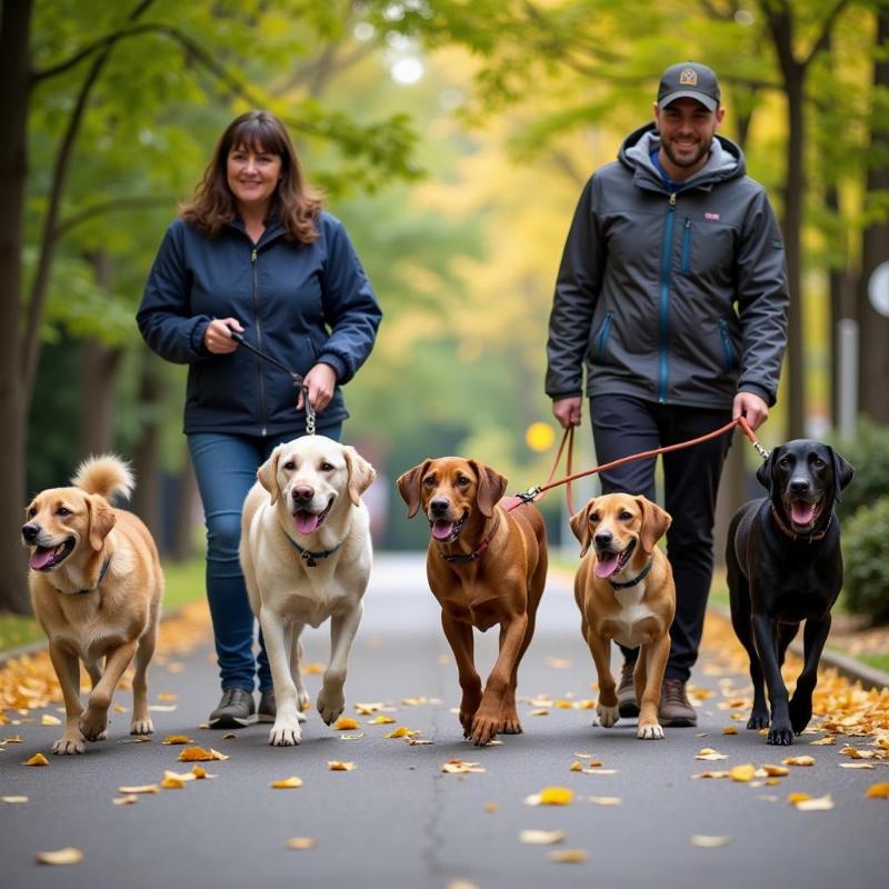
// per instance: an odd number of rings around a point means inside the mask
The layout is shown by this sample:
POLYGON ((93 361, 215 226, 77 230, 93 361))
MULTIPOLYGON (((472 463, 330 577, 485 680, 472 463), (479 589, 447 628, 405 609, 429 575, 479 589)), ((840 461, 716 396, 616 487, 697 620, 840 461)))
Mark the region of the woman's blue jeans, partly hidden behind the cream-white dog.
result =
MULTIPOLYGON (((320 429, 319 432, 339 441, 342 423, 320 429)), ((257 469, 269 459, 276 444, 291 441, 300 434, 293 431, 260 438, 193 432, 188 437, 207 523, 207 600, 223 689, 252 691, 257 673, 260 691, 272 687, 261 632, 259 657, 253 657, 253 612, 250 610, 238 557, 241 507, 257 480, 257 469)))

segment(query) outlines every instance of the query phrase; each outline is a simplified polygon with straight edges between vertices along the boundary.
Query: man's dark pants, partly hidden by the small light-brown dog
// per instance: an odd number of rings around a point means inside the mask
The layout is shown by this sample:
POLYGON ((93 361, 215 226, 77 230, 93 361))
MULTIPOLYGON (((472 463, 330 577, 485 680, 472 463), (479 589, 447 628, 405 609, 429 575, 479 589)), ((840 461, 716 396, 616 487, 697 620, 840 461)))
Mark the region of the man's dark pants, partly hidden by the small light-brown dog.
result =
MULTIPOLYGON (((659 404, 627 396, 590 399, 596 460, 608 463, 640 451, 698 438, 731 420, 731 410, 659 404)), ((731 432, 661 455, 663 508, 672 517, 667 558, 676 580, 676 619, 670 629, 667 676, 688 681, 698 658, 713 571, 713 519, 719 476, 731 432)), ((635 460, 602 472, 602 493, 625 491, 655 500, 655 461, 635 460)), ((621 646, 627 660, 638 649, 621 646)))

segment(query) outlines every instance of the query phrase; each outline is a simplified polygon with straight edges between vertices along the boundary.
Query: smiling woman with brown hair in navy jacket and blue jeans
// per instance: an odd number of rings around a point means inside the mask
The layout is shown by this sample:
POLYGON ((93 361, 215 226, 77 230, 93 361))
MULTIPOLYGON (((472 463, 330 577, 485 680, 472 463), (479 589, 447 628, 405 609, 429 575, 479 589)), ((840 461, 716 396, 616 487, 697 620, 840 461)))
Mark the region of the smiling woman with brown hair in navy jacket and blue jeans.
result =
POLYGON ((381 312, 342 224, 321 210, 268 111, 236 118, 154 259, 137 314, 161 358, 189 364, 184 432, 207 522, 207 597, 222 699, 212 728, 274 721, 238 561, 241 506, 276 444, 304 432, 302 393, 232 331, 304 377, 320 433, 339 440, 340 386, 370 353, 381 312))

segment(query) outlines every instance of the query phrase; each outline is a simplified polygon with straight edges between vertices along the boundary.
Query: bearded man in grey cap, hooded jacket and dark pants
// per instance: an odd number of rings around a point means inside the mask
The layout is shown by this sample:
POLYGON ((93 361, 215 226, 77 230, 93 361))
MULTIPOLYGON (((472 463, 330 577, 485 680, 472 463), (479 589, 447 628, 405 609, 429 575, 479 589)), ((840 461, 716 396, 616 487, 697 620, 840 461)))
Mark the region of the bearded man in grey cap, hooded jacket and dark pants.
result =
MULTIPOLYGON (((716 74, 683 62, 661 78, 655 120, 589 180, 565 246, 547 344, 547 394, 579 426, 587 368, 597 460, 697 438, 775 403, 788 304, 783 243, 741 150, 717 136, 716 74)), ((713 563, 713 515, 730 434, 663 455, 667 555, 677 587, 659 718, 693 726, 686 683, 713 563)), ((655 460, 600 476, 602 491, 655 498, 655 460)), ((621 716, 636 716, 625 650, 621 716)))

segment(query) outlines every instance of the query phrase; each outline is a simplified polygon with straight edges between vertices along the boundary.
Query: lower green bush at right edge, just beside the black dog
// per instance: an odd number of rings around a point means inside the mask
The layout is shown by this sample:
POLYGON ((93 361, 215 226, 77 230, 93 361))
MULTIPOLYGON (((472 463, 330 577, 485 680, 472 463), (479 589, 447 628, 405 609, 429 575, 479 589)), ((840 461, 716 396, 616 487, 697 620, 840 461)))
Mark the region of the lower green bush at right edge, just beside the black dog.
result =
POLYGON ((889 496, 861 507, 842 528, 845 602, 875 622, 889 621, 889 496))

